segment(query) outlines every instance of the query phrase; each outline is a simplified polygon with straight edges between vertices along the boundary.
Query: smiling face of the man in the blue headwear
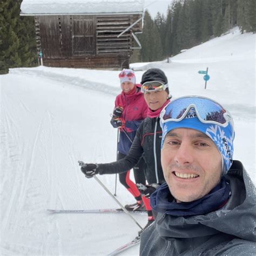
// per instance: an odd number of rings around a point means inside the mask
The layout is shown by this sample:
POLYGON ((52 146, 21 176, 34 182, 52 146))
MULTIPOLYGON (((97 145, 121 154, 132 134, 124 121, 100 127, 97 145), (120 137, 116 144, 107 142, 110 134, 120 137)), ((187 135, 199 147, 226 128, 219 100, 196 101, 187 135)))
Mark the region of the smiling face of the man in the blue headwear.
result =
POLYGON ((177 203, 204 197, 220 181, 221 156, 206 134, 178 128, 166 134, 161 150, 166 183, 177 203))

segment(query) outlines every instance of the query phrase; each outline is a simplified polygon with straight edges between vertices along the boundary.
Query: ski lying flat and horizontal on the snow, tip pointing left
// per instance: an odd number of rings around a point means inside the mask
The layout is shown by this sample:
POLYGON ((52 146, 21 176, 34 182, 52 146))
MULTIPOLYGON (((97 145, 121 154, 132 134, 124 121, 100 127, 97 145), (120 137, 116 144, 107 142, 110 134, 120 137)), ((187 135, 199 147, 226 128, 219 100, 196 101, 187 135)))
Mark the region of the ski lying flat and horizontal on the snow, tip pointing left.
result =
MULTIPOLYGON (((125 213, 123 210, 119 209, 95 209, 95 210, 59 210, 59 209, 47 209, 51 213, 125 213)), ((145 214, 146 211, 129 211, 129 213, 140 213, 145 214)))

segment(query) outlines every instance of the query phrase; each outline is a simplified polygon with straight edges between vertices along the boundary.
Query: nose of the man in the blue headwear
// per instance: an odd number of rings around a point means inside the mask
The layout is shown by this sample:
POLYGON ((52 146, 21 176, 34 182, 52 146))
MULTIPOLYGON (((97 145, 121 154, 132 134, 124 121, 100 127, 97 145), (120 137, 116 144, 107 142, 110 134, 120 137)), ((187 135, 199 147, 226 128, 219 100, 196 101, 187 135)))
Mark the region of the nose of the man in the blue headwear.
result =
POLYGON ((193 161, 192 145, 186 142, 181 142, 179 149, 174 156, 174 160, 180 165, 191 164, 193 161))

